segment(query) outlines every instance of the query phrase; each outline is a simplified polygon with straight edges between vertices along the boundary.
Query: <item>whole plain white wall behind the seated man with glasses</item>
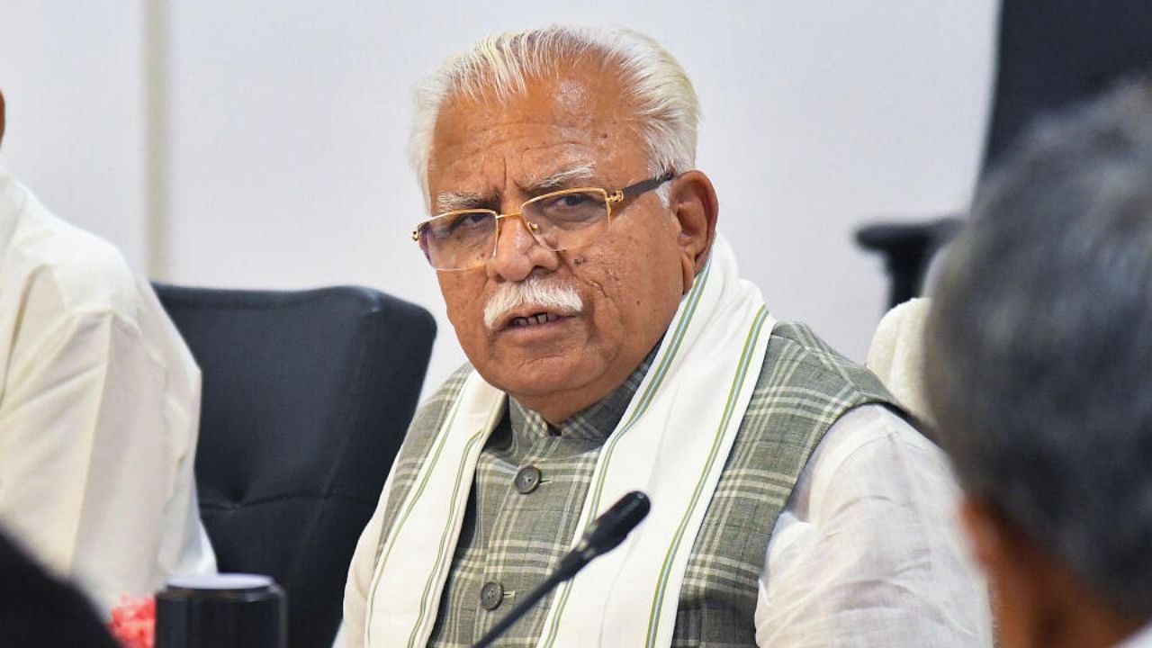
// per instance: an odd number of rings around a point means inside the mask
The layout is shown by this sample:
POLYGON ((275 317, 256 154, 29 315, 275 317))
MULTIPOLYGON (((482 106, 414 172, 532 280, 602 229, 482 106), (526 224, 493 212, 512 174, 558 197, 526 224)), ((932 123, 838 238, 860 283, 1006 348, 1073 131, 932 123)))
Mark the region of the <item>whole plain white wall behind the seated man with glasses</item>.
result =
MULTIPOLYGON (((77 5, 0 0, 0 88, 12 104, 0 164, 147 258, 143 158, 132 153, 145 131, 132 29, 145 21, 122 3, 115 20, 100 3, 77 5), (68 99, 90 95, 98 104, 76 116, 68 99), (21 107, 56 99, 43 113, 21 107)), ((967 205, 995 23, 994 0, 167 7, 167 254, 154 274, 210 286, 364 284, 415 301, 441 324, 432 383, 463 355, 408 236, 424 214, 406 149, 411 88, 448 54, 488 31, 550 22, 653 35, 697 84, 698 166, 720 194, 720 228, 744 274, 778 317, 808 321, 863 359, 887 284, 852 231, 967 205)))

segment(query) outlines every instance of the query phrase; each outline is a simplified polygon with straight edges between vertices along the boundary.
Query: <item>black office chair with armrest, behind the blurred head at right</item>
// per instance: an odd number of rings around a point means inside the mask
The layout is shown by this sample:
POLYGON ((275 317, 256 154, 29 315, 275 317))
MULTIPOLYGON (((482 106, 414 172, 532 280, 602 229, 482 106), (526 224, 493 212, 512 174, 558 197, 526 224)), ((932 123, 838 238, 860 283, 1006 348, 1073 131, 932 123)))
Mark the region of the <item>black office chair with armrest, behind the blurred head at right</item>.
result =
MULTIPOLYGON (((1147 0, 1003 0, 995 97, 984 150, 991 167, 1036 116, 1152 69, 1152 3, 1147 0)), ((888 308, 923 289, 935 251, 958 229, 955 214, 922 223, 880 223, 856 241, 885 257, 888 308)))

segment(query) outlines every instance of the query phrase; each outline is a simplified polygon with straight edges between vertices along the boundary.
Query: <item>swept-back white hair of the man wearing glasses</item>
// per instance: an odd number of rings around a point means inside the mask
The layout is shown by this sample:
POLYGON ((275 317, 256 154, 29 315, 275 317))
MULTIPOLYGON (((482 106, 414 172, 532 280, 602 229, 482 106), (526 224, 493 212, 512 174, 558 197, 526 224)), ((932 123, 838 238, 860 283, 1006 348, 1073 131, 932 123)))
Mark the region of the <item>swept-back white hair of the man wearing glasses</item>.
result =
MULTIPOLYGON (((417 86, 410 156, 425 199, 432 134, 448 98, 458 95, 479 100, 494 95, 507 101, 524 93, 529 80, 582 61, 619 75, 626 89, 621 100, 634 107, 642 125, 652 175, 694 166, 699 104, 676 59, 638 31, 553 25, 488 36, 445 61, 417 86)), ((658 194, 667 203, 667 184, 658 194)))

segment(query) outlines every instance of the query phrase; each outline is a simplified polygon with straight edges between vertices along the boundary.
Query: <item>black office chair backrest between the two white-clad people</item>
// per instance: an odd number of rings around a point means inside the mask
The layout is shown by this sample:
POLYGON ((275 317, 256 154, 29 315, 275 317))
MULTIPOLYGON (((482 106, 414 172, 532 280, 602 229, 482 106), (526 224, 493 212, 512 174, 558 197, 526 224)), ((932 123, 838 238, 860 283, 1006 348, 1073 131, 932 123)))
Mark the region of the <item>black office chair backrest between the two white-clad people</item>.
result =
POLYGON ((289 645, 328 648, 435 322, 367 288, 156 291, 203 374, 196 480, 219 567, 273 577, 289 645))

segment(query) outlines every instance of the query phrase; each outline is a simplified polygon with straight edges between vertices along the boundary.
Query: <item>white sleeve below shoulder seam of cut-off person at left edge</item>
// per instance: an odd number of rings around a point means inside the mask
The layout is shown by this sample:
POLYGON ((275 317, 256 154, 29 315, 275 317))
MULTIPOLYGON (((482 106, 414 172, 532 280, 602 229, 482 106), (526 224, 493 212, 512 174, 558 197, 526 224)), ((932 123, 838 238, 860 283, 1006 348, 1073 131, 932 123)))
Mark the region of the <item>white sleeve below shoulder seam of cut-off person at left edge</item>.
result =
POLYGON ((176 479, 165 371, 112 312, 24 324, 47 330, 23 331, 9 357, 0 522, 107 612, 162 585, 156 556, 176 479))

